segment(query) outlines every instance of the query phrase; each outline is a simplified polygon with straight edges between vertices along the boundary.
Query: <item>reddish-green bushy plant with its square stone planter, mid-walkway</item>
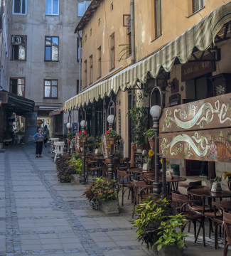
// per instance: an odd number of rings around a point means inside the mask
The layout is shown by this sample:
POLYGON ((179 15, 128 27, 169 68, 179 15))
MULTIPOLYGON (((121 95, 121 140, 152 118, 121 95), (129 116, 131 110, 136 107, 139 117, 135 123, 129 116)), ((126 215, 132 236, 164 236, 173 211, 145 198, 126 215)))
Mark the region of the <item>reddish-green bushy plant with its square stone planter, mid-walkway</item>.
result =
POLYGON ((119 213, 119 188, 117 181, 107 181, 106 178, 96 178, 82 196, 90 201, 93 209, 104 213, 119 213))

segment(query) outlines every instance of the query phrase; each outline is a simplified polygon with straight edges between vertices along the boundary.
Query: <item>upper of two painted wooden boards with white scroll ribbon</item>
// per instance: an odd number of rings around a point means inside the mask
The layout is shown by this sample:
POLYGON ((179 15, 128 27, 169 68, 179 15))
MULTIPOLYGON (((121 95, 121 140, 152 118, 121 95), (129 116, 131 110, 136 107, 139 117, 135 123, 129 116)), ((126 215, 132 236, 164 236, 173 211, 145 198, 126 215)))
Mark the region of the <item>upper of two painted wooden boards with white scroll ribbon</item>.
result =
POLYGON ((163 109, 159 132, 231 126, 231 93, 163 109))

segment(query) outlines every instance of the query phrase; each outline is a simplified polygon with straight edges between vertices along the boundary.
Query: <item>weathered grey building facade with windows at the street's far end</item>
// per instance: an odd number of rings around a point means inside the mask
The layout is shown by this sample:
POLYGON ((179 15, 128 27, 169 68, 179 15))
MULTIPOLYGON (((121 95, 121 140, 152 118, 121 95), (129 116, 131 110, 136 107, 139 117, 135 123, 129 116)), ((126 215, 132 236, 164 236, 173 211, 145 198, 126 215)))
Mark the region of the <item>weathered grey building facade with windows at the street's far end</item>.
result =
POLYGON ((49 112, 78 92, 80 58, 74 30, 90 1, 2 3, 1 85, 34 100, 39 106, 38 119, 52 128, 52 134, 64 132, 68 117, 62 114, 57 126, 49 112))

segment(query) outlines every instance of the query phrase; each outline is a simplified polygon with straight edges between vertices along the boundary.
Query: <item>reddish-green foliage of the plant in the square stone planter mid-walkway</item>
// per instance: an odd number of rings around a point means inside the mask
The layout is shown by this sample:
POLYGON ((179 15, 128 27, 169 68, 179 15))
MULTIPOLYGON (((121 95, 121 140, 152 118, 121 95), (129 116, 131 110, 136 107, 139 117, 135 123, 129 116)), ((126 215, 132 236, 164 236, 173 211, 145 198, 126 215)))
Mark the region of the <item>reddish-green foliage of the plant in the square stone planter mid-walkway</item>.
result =
POLYGON ((90 201, 94 210, 98 208, 100 201, 118 200, 119 188, 117 188, 117 181, 107 181, 106 178, 96 178, 95 181, 88 186, 82 196, 90 201))

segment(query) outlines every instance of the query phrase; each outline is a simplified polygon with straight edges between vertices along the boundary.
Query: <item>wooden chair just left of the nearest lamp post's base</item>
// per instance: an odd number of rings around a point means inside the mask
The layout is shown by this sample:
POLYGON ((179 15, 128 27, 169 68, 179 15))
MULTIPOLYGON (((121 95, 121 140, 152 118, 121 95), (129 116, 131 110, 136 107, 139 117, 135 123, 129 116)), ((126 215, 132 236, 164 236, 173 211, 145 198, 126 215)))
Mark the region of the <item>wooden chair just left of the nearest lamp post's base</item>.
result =
MULTIPOLYGON (((136 203, 151 197, 153 198, 154 195, 152 193, 153 185, 147 185, 145 181, 133 181, 134 183, 134 208, 136 203)), ((133 208, 133 209, 134 209, 133 208)), ((134 217, 134 212, 132 213, 132 218, 134 217)))

